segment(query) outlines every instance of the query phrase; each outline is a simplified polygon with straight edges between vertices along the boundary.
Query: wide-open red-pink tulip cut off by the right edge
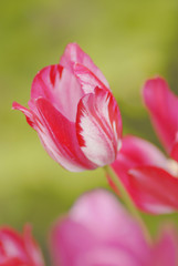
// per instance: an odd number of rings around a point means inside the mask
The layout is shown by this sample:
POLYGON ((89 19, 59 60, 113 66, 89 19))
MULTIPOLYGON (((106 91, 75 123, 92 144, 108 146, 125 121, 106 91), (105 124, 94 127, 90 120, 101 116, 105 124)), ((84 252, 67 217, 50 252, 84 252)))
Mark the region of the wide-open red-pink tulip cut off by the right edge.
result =
MULTIPOLYGON (((177 160, 178 98, 163 79, 157 78, 146 82, 144 101, 158 136, 167 152, 177 160)), ((178 164, 151 143, 125 136, 112 167, 142 211, 153 214, 178 211, 178 164)))

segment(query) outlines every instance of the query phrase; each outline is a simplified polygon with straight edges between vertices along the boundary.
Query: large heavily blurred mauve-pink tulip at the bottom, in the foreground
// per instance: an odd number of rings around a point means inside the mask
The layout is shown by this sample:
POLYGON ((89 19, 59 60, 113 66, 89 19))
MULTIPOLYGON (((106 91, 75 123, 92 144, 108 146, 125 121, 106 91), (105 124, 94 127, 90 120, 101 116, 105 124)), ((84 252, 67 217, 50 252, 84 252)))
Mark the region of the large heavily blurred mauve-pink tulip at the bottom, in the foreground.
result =
POLYGON ((166 228, 148 244, 134 218, 106 191, 83 195, 51 235, 54 266, 176 266, 177 236, 166 228))

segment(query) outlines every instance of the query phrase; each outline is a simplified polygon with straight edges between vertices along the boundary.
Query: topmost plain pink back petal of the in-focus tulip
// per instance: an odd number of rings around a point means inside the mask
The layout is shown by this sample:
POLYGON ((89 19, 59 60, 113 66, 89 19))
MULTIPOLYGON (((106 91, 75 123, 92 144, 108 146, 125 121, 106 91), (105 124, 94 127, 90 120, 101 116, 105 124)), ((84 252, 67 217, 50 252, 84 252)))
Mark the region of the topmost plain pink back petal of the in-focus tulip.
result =
POLYGON ((74 63, 83 64, 101 80, 106 88, 109 88, 102 71, 93 63, 92 59, 76 43, 70 43, 61 57, 60 64, 73 71, 74 63))

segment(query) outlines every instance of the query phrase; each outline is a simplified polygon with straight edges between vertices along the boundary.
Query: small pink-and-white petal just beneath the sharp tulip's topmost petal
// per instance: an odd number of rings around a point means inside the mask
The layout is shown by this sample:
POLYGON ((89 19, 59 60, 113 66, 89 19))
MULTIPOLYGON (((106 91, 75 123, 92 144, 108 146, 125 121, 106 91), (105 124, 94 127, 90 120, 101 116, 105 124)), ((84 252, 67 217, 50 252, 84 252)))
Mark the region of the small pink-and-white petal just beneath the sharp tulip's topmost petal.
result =
POLYGON ((85 93, 94 93, 96 86, 108 90, 94 73, 92 73, 86 66, 82 64, 74 64, 74 73, 85 93))

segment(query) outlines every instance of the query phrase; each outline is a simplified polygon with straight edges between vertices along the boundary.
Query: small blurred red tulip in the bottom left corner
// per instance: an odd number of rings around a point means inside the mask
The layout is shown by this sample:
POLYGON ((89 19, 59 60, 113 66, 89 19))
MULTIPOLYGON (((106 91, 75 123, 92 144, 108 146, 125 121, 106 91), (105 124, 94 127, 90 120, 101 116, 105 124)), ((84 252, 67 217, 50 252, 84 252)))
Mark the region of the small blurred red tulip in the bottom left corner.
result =
POLYGON ((0 266, 43 266, 38 244, 27 225, 23 235, 11 228, 0 228, 0 266))

